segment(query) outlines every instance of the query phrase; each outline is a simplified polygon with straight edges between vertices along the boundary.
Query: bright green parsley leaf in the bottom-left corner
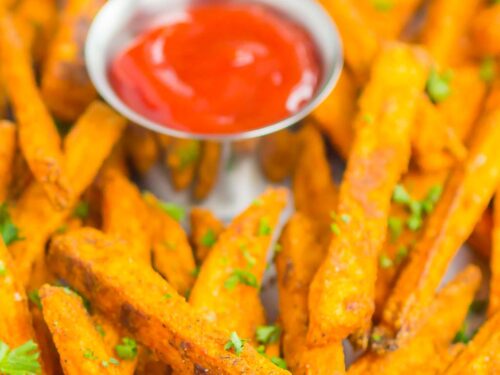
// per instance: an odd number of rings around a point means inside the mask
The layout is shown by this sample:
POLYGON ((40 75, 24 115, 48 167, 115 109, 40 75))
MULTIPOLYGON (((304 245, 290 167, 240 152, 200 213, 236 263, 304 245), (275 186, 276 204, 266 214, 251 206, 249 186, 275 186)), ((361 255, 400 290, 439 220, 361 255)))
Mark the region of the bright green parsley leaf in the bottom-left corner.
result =
POLYGON ((38 362, 40 353, 38 345, 32 340, 11 349, 0 341, 0 374, 3 375, 36 375, 40 374, 38 362))

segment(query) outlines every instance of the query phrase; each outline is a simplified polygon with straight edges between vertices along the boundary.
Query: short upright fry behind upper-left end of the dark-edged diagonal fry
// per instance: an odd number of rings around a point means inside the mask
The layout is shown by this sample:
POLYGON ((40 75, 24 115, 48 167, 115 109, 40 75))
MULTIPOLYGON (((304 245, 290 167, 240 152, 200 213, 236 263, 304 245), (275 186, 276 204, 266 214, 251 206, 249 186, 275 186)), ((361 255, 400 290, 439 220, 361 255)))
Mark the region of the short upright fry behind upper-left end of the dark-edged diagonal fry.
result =
POLYGON ((151 263, 149 215, 137 186, 125 176, 109 170, 102 192, 103 230, 129 244, 128 255, 151 263))

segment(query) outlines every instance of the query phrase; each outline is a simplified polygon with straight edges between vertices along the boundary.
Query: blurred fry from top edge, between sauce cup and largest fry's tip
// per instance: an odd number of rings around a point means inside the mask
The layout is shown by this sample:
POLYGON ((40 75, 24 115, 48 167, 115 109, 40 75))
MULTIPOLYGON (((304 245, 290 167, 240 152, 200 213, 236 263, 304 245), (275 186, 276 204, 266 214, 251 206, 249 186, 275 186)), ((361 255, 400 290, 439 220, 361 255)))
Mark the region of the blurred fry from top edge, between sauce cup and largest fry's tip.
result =
POLYGON ((345 59, 359 81, 364 81, 378 53, 380 41, 351 0, 320 0, 339 28, 345 59))

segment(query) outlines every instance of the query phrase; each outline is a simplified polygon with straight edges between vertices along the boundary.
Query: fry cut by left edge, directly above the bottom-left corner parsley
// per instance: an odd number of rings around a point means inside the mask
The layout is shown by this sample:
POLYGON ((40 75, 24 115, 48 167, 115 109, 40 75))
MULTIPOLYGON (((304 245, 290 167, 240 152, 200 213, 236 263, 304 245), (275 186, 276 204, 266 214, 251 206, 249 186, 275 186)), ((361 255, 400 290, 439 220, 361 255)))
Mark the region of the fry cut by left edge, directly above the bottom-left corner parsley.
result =
POLYGON ((0 341, 17 347, 35 338, 28 300, 0 236, 0 341))

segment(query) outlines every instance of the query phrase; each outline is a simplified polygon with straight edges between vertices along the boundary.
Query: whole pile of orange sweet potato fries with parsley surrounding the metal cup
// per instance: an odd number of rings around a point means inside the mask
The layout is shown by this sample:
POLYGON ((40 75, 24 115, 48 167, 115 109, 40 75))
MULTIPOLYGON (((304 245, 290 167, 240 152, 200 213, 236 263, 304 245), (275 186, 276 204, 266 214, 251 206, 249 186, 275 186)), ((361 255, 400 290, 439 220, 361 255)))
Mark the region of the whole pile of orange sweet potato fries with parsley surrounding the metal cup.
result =
POLYGON ((337 87, 297 131, 233 145, 292 193, 230 223, 194 208, 188 231, 133 181, 162 158, 201 200, 220 145, 97 98, 82 50, 103 3, 0 2, 0 374, 500 374, 498 0, 321 0, 337 87), (469 264, 441 287, 467 241, 491 278, 469 264))

